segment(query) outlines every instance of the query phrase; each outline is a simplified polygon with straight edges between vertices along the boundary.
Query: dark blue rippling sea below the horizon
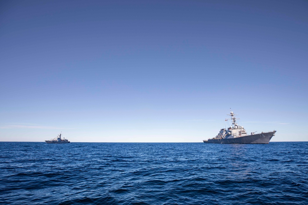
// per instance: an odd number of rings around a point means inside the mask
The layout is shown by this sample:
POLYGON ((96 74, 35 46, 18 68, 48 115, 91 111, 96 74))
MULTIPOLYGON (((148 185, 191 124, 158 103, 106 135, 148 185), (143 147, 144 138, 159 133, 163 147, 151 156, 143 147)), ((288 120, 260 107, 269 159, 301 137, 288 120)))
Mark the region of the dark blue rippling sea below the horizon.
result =
POLYGON ((308 204, 308 142, 0 142, 0 204, 308 204))

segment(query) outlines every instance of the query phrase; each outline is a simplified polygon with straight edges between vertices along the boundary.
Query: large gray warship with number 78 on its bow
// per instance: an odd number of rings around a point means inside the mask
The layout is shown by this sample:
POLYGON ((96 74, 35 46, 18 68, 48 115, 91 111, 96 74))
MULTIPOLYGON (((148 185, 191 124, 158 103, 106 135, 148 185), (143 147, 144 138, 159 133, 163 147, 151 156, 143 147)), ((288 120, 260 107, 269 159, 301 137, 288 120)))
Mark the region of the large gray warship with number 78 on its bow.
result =
POLYGON ((232 120, 232 126, 230 126, 228 129, 223 128, 220 130, 218 135, 216 137, 213 137, 212 139, 203 140, 204 143, 216 143, 216 144, 269 144, 270 140, 273 136, 275 136, 276 131, 269 131, 269 132, 261 132, 258 134, 255 134, 255 132, 251 132, 250 135, 247 135, 246 130, 244 127, 239 126, 236 123, 236 120, 239 120, 239 118, 236 118, 236 114, 234 114, 232 111, 230 111, 230 114, 227 114, 231 116, 232 120))

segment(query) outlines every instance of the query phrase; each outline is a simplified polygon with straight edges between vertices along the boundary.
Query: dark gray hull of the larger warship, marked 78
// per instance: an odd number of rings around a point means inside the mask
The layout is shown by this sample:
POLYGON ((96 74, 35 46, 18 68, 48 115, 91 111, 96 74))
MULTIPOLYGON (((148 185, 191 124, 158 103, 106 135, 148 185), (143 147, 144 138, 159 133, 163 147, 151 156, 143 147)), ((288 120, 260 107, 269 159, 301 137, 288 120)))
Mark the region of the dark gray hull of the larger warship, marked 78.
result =
POLYGON ((274 132, 265 132, 255 135, 247 135, 236 138, 227 139, 209 139, 203 140, 204 143, 214 143, 214 144, 269 144, 270 140, 274 136, 274 132))

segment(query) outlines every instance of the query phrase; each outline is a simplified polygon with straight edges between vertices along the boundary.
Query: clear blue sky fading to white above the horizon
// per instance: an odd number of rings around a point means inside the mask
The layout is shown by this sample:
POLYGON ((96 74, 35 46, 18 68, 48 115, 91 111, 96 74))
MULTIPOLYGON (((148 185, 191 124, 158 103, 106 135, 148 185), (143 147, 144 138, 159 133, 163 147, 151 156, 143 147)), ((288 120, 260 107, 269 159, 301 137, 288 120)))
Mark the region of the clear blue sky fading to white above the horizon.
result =
POLYGON ((307 1, 0 1, 0 141, 307 141, 307 1))

